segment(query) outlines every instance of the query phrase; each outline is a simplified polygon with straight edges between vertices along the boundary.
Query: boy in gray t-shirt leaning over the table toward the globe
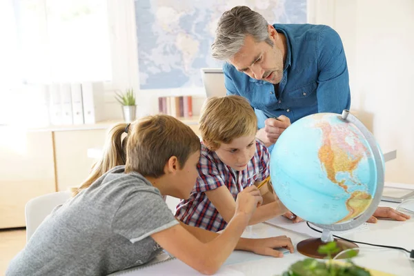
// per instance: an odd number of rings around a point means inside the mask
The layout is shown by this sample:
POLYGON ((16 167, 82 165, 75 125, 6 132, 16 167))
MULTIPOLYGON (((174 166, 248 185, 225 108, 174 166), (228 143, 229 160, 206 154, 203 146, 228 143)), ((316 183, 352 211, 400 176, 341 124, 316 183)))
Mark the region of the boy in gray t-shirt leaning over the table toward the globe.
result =
POLYGON ((88 179, 42 222, 7 276, 107 275, 149 262, 161 247, 213 274, 234 249, 275 257, 283 254, 273 248, 293 250, 286 237, 240 239, 262 203, 254 186, 237 195, 235 215, 221 234, 179 224, 162 196, 190 196, 201 148, 181 121, 156 115, 117 124, 108 135, 88 179))

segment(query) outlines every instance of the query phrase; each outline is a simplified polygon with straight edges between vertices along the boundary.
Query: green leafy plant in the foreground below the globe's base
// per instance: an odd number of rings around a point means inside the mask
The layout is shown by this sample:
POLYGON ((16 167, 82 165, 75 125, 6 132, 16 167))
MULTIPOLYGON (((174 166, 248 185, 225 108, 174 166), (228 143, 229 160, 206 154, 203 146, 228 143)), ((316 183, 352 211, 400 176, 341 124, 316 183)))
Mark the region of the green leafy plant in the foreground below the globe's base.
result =
POLYGON ((325 262, 316 259, 304 259, 291 265, 288 271, 282 276, 370 276, 371 273, 360 266, 355 265, 351 258, 357 255, 355 250, 347 252, 348 260, 346 263, 337 262, 331 259, 331 256, 338 253, 340 248, 336 242, 329 242, 324 246, 319 246, 318 252, 326 254, 328 260, 325 262))

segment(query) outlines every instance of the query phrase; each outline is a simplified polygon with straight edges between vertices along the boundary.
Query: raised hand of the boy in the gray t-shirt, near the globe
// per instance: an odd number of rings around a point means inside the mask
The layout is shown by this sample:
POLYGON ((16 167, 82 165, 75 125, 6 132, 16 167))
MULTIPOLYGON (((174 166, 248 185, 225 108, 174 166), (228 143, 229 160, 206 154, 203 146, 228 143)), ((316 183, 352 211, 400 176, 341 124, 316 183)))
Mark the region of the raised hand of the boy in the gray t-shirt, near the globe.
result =
POLYGON ((249 186, 237 195, 236 214, 244 213, 249 216, 255 212, 256 208, 262 204, 263 198, 256 186, 249 186))

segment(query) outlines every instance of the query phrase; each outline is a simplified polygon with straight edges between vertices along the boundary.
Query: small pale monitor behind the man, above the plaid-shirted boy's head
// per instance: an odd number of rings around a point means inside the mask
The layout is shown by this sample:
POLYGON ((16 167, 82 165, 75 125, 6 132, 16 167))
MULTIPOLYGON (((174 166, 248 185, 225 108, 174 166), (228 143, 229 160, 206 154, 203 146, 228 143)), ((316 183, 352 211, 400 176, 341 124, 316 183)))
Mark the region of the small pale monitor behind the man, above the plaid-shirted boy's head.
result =
POLYGON ((201 78, 208 98, 226 96, 224 74, 221 68, 201 68, 201 78))

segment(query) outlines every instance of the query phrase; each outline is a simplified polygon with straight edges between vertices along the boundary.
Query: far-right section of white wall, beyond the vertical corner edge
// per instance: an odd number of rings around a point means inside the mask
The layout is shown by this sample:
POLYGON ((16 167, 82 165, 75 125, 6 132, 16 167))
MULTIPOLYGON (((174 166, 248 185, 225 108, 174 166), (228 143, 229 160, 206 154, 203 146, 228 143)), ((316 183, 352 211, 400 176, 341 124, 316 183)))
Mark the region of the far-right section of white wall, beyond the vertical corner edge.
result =
POLYGON ((397 148, 386 178, 404 183, 414 183, 413 15, 413 0, 358 1, 354 105, 374 114, 380 145, 397 148))

